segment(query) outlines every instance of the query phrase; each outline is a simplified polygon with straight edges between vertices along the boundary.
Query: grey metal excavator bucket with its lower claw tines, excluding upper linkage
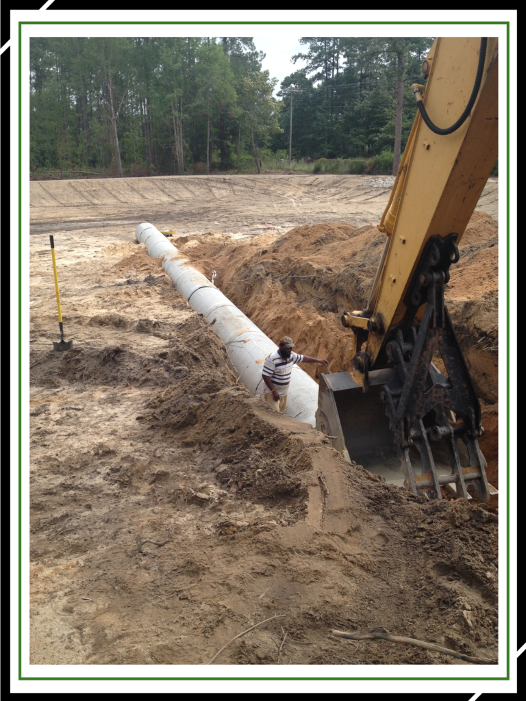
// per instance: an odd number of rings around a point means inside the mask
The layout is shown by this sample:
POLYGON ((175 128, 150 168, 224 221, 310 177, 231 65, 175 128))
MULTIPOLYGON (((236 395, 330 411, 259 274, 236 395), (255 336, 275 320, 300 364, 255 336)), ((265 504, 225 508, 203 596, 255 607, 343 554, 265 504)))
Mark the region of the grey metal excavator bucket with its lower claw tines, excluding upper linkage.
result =
MULTIPOLYGON (((393 373, 393 369, 371 371, 367 392, 350 372, 322 375, 316 428, 330 437, 347 461, 382 475, 390 484, 406 486, 415 496, 425 491, 441 498, 443 489, 468 501, 473 484, 480 501, 489 501, 497 490, 487 483, 486 461, 477 439, 466 435, 463 422, 456 421, 447 407, 438 404, 431 409, 422 421, 420 440, 415 437, 411 447, 400 449, 385 402, 385 386, 392 382, 393 373)), ((447 377, 433 363, 429 374, 433 385, 447 384, 447 377)))

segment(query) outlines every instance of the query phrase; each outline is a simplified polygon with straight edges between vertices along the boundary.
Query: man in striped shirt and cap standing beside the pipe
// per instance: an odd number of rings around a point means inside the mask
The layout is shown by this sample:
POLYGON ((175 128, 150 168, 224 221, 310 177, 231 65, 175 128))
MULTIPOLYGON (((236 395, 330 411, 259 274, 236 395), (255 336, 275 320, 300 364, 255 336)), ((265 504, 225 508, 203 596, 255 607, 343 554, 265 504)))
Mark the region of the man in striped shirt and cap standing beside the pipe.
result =
POLYGON ((319 358, 311 358, 310 355, 299 355, 292 351, 295 348, 295 343, 290 336, 283 336, 279 341, 279 347, 271 353, 263 365, 262 378, 266 385, 263 389, 263 398, 269 402, 276 411, 285 413, 287 409, 287 394, 290 383, 290 373, 292 365, 298 362, 319 362, 326 368, 329 367, 329 361, 319 358))

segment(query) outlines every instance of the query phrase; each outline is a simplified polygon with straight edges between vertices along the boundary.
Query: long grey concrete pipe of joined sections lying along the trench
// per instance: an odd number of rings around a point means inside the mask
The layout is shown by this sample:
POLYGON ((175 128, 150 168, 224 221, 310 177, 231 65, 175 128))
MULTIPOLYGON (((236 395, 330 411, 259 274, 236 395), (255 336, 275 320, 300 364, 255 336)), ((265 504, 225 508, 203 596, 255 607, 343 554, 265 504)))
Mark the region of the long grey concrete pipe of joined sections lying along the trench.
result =
MULTIPOLYGON (((262 368, 264 359, 276 350, 271 341, 224 294, 192 268, 187 260, 176 257, 177 248, 152 224, 139 224, 137 241, 147 246, 151 257, 162 258, 163 268, 173 280, 173 286, 196 311, 204 314, 214 331, 227 346, 229 359, 239 380, 253 395, 263 393, 262 368)), ((318 385, 295 365, 292 368, 287 402, 287 416, 296 421, 316 425, 318 385)))

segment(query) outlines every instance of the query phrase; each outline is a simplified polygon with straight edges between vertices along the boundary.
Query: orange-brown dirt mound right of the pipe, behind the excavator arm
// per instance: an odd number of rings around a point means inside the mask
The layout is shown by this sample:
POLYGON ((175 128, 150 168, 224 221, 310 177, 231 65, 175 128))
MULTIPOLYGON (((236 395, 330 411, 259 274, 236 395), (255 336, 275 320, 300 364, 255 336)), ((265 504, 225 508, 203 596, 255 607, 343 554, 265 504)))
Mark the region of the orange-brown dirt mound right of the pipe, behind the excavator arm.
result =
MULTIPOLYGON (((342 311, 367 304, 384 240, 376 226, 325 222, 298 226, 285 236, 232 242, 214 231, 175 239, 174 245, 182 243, 184 257, 208 278, 217 271, 215 284, 276 343, 288 334, 300 352, 328 358, 331 372, 339 372, 349 369, 354 355, 342 311)), ((446 286, 471 377, 492 417, 498 410, 498 248, 497 222, 474 212, 446 286)), ((319 365, 304 369, 316 380, 321 372, 319 365)), ((494 418, 485 430, 480 444, 490 455, 490 473, 497 475, 494 418)))

